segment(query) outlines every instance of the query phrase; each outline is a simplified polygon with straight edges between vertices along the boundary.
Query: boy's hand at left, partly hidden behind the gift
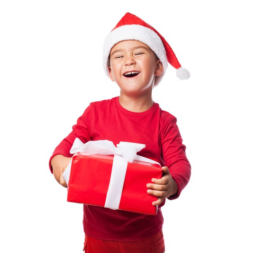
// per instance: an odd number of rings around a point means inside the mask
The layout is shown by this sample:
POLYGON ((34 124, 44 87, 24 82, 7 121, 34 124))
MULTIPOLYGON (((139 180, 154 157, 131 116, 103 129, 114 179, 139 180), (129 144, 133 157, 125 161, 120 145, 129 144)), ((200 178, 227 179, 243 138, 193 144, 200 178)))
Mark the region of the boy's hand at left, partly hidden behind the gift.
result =
POLYGON ((53 170, 53 175, 55 179, 63 187, 67 188, 67 184, 63 178, 63 172, 67 168, 68 164, 72 160, 72 157, 64 157, 62 154, 57 154, 52 158, 51 165, 53 170))

